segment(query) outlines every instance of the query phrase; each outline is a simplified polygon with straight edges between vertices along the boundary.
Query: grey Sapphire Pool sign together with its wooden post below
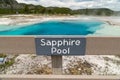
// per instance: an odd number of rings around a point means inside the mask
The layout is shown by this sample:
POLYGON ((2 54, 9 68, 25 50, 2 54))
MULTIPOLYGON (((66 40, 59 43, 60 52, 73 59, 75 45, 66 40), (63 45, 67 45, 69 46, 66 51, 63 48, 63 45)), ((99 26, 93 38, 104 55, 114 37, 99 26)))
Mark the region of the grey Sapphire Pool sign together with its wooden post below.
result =
POLYGON ((37 37, 35 38, 37 55, 50 55, 52 72, 62 74, 62 55, 85 55, 84 37, 37 37))

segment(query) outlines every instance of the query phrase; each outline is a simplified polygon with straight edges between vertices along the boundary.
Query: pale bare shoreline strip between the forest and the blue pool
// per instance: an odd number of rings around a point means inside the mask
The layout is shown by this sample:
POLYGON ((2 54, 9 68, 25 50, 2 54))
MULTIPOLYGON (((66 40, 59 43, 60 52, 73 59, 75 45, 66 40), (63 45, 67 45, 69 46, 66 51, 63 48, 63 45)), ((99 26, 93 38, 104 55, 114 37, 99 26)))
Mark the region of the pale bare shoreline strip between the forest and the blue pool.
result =
POLYGON ((0 17, 0 25, 30 25, 49 20, 98 20, 110 25, 120 26, 120 17, 116 16, 47 16, 47 15, 4 15, 0 17))

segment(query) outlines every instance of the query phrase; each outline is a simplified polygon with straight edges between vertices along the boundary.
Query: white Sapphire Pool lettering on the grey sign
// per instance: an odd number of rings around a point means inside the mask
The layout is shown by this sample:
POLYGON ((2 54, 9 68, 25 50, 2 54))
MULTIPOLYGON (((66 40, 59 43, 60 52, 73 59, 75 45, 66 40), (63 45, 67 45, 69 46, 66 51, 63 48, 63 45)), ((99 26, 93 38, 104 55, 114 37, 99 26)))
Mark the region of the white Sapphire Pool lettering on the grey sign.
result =
POLYGON ((80 46, 80 40, 71 40, 71 39, 63 39, 63 40, 46 40, 41 39, 41 46, 51 46, 51 54, 70 54, 70 47, 67 48, 59 48, 61 46, 80 46))

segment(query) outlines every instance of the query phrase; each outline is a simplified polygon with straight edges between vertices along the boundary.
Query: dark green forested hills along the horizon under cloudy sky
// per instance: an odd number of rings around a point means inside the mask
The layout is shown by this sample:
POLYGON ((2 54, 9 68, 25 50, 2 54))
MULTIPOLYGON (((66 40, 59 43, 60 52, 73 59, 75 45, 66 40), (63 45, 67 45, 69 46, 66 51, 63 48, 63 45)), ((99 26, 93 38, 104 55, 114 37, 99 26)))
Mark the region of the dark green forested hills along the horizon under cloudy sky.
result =
POLYGON ((65 7, 43 7, 18 3, 15 0, 0 0, 0 14, 49 14, 49 15, 118 15, 120 12, 107 8, 72 10, 65 7))

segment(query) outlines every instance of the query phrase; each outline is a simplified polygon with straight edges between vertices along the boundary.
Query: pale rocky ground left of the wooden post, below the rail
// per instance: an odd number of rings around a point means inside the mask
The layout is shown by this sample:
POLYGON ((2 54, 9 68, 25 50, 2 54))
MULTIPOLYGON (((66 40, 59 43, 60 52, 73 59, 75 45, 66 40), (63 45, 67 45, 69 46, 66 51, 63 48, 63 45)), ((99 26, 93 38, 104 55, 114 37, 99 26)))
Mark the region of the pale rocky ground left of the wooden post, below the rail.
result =
POLYGON ((18 55, 3 74, 50 74, 51 59, 47 56, 18 55))

